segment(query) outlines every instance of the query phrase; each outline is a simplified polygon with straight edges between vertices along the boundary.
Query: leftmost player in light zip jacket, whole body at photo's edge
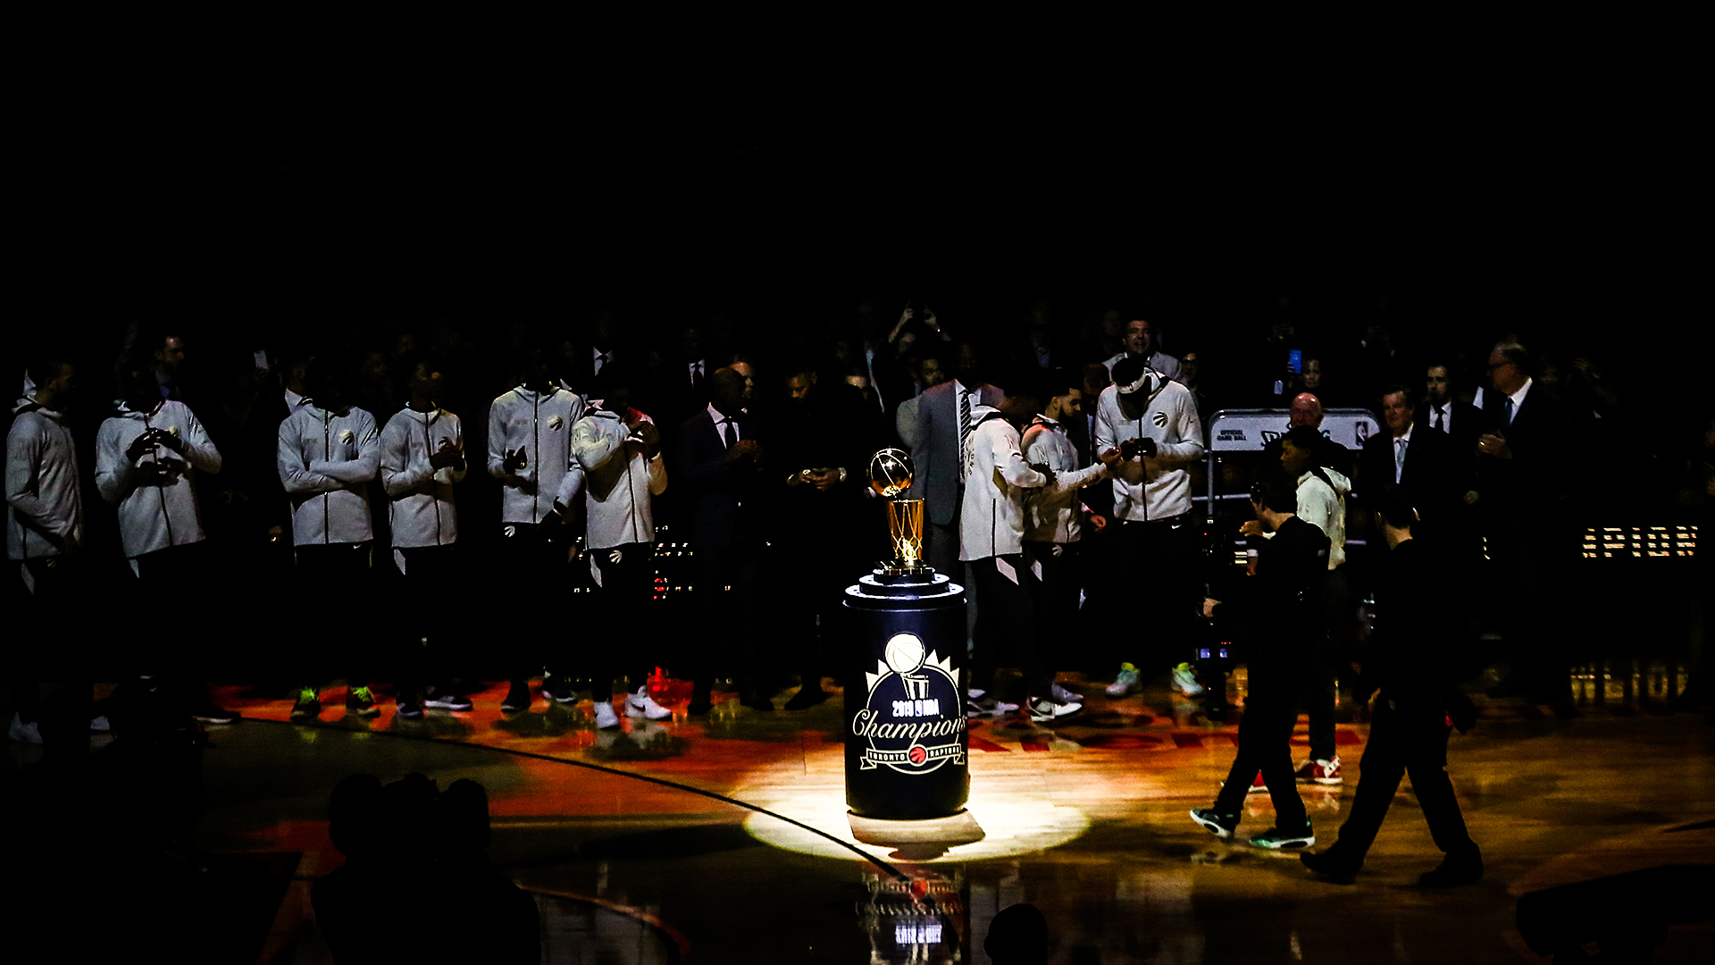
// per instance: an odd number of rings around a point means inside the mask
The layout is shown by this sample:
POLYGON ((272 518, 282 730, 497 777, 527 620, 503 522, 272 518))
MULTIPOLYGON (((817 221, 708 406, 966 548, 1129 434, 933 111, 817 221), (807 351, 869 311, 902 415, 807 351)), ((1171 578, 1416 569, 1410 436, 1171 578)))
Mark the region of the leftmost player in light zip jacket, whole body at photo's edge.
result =
MULTIPOLYGON (((77 369, 58 355, 31 362, 34 388, 12 410, 5 436, 7 556, 31 594, 29 618, 19 639, 50 640, 79 606, 77 553, 84 541, 84 500, 77 476, 77 446, 65 424, 65 409, 77 395, 77 369)), ((12 740, 87 745, 93 683, 77 666, 79 647, 15 647, 31 661, 19 675, 39 683, 19 689, 12 740)))

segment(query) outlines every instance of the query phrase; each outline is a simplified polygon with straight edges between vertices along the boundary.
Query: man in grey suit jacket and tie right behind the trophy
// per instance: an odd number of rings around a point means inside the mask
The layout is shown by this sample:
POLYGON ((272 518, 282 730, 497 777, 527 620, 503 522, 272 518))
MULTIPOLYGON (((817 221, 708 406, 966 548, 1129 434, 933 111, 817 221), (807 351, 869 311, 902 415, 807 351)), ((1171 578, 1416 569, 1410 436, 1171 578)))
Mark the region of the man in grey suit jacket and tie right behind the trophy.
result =
POLYGON ((1005 390, 988 385, 983 355, 976 345, 959 345, 959 374, 935 388, 924 390, 918 402, 918 448, 911 457, 918 477, 911 498, 923 500, 930 517, 926 556, 936 570, 957 579, 964 574, 959 563, 959 503, 964 496, 966 445, 976 428, 971 410, 978 405, 1000 405, 1005 390))

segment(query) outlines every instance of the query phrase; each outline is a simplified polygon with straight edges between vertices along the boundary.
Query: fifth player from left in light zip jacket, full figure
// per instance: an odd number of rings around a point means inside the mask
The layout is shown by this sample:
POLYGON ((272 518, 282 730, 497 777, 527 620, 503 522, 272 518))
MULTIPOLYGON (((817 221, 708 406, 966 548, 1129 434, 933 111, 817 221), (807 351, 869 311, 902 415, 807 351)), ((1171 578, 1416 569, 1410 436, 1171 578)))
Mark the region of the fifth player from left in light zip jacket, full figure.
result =
POLYGON ((530 354, 525 381, 489 407, 489 476, 501 481, 501 560, 516 580, 516 618, 509 627, 508 675, 511 687, 502 711, 530 709, 530 675, 554 663, 542 682, 542 695, 573 701, 569 654, 544 652, 549 640, 569 632, 564 601, 571 584, 576 532, 568 525, 571 498, 583 482, 583 470, 571 457, 571 426, 583 416, 585 402, 554 378, 552 361, 537 349, 530 354))

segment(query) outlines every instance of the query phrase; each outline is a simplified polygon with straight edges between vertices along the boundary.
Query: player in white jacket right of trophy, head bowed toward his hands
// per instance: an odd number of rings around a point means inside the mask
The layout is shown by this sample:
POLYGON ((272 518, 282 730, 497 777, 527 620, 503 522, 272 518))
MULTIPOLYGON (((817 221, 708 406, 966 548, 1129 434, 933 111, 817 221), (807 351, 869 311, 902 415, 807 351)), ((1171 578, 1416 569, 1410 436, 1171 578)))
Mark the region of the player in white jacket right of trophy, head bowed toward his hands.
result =
MULTIPOLYGON (((1134 659, 1120 665, 1108 695, 1125 697, 1140 689, 1139 661, 1170 661, 1170 654, 1185 654, 1192 640, 1199 531, 1185 467, 1200 460, 1204 448, 1202 421, 1190 390, 1135 355, 1120 359, 1113 366, 1113 385, 1096 402, 1096 452, 1113 476, 1113 517, 1120 522, 1123 560, 1118 587, 1147 586, 1164 606, 1151 632, 1151 639, 1163 644, 1146 658, 1135 652, 1142 644, 1132 639, 1120 654, 1134 659)), ((1188 663, 1173 671, 1173 683, 1188 697, 1202 694, 1188 663)))

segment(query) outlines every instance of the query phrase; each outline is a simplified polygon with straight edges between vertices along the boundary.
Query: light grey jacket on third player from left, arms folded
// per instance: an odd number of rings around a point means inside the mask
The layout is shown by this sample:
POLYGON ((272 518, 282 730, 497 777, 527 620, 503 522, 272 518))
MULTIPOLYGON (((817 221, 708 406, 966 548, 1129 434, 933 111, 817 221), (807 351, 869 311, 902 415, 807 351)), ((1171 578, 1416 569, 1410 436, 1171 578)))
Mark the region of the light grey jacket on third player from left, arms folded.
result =
POLYGON ((274 460, 292 500, 297 546, 369 543, 369 482, 381 465, 376 417, 358 407, 328 412, 314 402, 280 424, 274 460))

